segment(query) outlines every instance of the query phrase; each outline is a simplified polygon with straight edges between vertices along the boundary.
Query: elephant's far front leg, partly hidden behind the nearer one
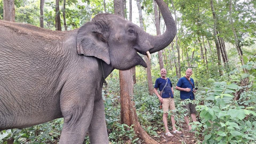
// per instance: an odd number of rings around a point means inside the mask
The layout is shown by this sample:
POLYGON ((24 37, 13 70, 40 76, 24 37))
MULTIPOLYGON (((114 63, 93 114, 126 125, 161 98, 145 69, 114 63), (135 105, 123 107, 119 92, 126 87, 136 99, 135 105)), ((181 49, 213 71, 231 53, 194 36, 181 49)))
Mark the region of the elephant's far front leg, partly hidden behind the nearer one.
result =
POLYGON ((90 143, 109 143, 102 98, 94 102, 93 118, 89 127, 90 143))

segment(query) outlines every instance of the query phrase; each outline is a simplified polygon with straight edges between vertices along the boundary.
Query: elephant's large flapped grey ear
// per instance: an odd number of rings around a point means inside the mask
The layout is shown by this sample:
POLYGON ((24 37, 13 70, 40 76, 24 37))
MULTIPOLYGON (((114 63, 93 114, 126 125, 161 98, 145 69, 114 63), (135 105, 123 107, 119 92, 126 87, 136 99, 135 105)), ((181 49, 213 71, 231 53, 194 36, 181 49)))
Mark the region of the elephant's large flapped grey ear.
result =
POLYGON ((109 48, 102 33, 94 22, 87 22, 77 32, 77 52, 85 56, 94 56, 110 64, 109 48))

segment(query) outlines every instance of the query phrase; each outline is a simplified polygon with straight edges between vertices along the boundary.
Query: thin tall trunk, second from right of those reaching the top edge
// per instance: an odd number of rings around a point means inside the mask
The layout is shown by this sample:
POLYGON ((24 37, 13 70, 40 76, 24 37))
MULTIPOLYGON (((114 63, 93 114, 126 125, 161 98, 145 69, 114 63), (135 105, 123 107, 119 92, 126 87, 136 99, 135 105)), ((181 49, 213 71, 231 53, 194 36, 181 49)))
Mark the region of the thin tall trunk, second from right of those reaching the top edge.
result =
POLYGON ((211 11, 213 13, 213 20, 214 20, 214 25, 213 25, 213 35, 214 35, 214 42, 216 45, 216 49, 217 49, 217 56, 218 56, 218 69, 219 69, 219 74, 223 75, 223 72, 221 70, 221 54, 220 54, 220 50, 219 50, 219 43, 218 43, 218 39, 217 39, 217 18, 216 18, 216 14, 215 14, 215 10, 213 7, 213 0, 210 0, 210 6, 211 6, 211 11))

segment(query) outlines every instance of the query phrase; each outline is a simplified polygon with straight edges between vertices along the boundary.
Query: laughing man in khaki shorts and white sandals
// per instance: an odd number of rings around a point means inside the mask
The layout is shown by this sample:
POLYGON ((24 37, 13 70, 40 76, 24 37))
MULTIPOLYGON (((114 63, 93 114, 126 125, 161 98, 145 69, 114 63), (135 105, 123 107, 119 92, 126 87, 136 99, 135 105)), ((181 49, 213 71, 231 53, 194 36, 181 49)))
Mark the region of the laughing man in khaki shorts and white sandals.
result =
MULTIPOLYGON (((175 110, 174 99, 173 99, 173 94, 174 94, 173 85, 171 84, 170 79, 166 77, 166 74, 167 74, 166 69, 161 69, 160 74, 161 74, 161 77, 155 81, 154 92, 159 98, 159 101, 163 105, 163 124, 165 125, 165 131, 166 131, 165 135, 169 137, 173 137, 173 135, 170 133, 168 129, 168 124, 167 124, 169 109, 175 110), (167 84, 166 84, 166 81, 167 81, 167 84), (161 95, 158 94, 157 89, 159 89, 159 91, 163 90, 162 97, 161 95)), ((171 123, 173 125, 173 133, 181 134, 181 132, 178 131, 175 127, 175 120, 173 115, 171 115, 171 123)))

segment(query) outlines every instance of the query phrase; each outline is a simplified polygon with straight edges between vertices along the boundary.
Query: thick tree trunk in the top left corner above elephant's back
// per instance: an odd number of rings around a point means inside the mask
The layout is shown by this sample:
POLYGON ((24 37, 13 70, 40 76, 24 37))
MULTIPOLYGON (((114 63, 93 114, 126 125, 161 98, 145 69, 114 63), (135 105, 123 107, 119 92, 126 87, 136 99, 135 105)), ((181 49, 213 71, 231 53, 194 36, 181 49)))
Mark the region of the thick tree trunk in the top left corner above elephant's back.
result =
POLYGON ((14 0, 3 0, 3 20, 15 22, 14 0))

